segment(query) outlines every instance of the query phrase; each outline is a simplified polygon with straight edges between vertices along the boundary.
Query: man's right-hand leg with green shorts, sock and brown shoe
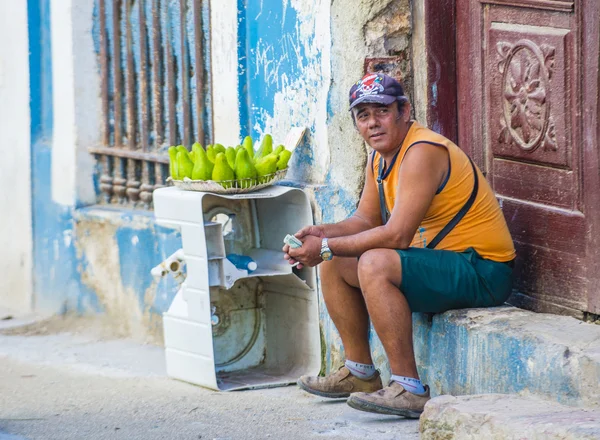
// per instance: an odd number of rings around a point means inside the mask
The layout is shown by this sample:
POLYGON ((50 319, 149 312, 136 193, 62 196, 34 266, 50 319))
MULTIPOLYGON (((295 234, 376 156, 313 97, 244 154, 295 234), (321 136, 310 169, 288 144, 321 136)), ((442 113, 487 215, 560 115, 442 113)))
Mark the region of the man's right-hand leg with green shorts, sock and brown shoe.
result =
POLYGON ((392 374, 403 377, 393 377, 388 387, 376 393, 353 394, 348 404, 364 411, 418 417, 429 390, 425 387, 421 392, 421 382, 410 380, 418 378, 411 312, 500 305, 510 295, 512 268, 484 260, 473 249, 460 253, 373 249, 361 256, 358 278, 392 374))

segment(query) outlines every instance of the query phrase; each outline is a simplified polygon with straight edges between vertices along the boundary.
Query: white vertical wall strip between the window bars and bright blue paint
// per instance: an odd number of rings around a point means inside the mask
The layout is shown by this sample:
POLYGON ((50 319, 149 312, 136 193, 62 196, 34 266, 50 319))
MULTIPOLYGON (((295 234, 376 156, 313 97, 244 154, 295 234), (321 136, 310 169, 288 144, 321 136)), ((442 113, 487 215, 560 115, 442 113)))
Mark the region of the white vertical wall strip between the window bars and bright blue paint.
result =
POLYGON ((237 12, 237 0, 210 2, 213 142, 223 145, 237 145, 247 134, 240 133, 237 12))

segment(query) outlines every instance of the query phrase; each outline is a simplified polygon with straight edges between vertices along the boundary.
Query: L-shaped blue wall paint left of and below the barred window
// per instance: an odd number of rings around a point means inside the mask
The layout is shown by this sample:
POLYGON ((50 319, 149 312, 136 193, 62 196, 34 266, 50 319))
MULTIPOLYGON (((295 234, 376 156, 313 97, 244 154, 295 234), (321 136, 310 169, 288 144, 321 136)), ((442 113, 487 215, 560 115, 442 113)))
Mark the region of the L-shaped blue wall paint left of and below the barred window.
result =
MULTIPOLYGON (((103 280, 94 280, 93 272, 98 268, 93 267, 88 259, 88 252, 93 249, 82 244, 90 241, 78 236, 78 232, 86 233, 81 227, 84 223, 108 222, 113 225, 114 231, 110 237, 103 236, 102 232, 87 231, 98 234, 94 237, 98 242, 109 238, 118 245, 118 261, 108 261, 109 267, 105 269, 119 271, 122 282, 119 287, 135 292, 142 314, 159 317, 175 295, 176 286, 172 280, 155 282, 150 276, 150 269, 181 247, 180 235, 156 226, 151 213, 61 206, 52 201, 50 1, 29 0, 28 20, 34 305, 39 311, 59 313, 110 309, 110 304, 103 303, 94 288, 97 282, 102 283, 103 280), (153 290, 150 296, 149 289, 153 290)), ((136 314, 137 311, 131 311, 132 316, 136 314)))

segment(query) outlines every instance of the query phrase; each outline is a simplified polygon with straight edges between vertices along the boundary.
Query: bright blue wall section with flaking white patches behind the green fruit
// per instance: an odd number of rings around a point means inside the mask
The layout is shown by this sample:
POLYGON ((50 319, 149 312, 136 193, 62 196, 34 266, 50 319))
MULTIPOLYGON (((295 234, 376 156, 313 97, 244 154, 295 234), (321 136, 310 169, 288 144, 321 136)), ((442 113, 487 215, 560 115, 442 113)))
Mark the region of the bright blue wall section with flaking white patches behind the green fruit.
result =
POLYGON ((282 143, 290 127, 307 127, 288 177, 322 182, 324 170, 315 169, 315 157, 319 148, 326 148, 324 142, 317 145, 316 136, 327 123, 327 103, 320 93, 329 87, 328 66, 322 65, 328 42, 316 41, 314 32, 324 12, 316 6, 296 7, 281 0, 238 0, 241 137, 261 139, 271 133, 282 143), (321 106, 325 117, 319 118, 316 109, 321 106))

